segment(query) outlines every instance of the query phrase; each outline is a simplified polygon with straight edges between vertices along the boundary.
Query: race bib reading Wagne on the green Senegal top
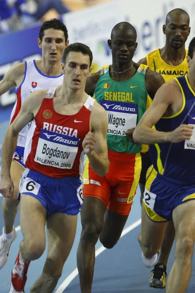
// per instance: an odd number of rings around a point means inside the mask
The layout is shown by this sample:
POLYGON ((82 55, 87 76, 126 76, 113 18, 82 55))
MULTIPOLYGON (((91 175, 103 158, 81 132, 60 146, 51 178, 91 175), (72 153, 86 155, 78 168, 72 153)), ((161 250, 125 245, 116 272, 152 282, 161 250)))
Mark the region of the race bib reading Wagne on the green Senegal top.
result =
POLYGON ((125 136, 128 129, 137 125, 137 104, 101 100, 108 118, 108 134, 125 136))

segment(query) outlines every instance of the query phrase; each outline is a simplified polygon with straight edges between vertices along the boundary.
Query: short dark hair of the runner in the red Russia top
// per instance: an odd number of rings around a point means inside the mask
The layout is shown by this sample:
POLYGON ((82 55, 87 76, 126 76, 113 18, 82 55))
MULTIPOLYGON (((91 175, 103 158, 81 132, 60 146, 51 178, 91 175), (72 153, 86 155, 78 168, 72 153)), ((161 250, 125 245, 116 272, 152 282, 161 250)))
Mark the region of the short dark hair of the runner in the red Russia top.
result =
POLYGON ((92 60, 93 60, 93 54, 92 54, 91 49, 87 45, 82 44, 82 43, 78 43, 78 42, 70 44, 65 48, 64 55, 63 55, 63 63, 64 64, 66 64, 66 58, 67 58, 68 54, 72 51, 73 52, 81 52, 83 55, 88 55, 89 59, 90 59, 90 66, 91 66, 92 60))

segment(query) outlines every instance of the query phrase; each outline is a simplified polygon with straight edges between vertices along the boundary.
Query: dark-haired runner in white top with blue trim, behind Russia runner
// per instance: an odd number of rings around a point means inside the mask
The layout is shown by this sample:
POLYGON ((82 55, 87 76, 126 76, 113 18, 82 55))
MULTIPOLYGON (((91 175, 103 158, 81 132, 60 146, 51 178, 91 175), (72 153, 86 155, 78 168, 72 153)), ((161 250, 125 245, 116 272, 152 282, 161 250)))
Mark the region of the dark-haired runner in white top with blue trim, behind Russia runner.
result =
MULTIPOLYGON (((12 123, 20 112, 21 105, 26 97, 34 90, 58 86, 63 82, 61 57, 64 48, 68 45, 66 26, 59 20, 45 21, 39 30, 38 45, 42 49, 42 59, 15 64, 0 82, 0 95, 17 86, 17 102, 12 110, 12 123)), ((8 258, 11 243, 16 239, 17 232, 13 229, 19 201, 19 182, 25 169, 23 163, 24 146, 28 126, 19 133, 18 143, 11 163, 11 178, 14 183, 12 198, 3 198, 2 215, 4 220, 3 234, 0 236, 0 269, 8 258)))

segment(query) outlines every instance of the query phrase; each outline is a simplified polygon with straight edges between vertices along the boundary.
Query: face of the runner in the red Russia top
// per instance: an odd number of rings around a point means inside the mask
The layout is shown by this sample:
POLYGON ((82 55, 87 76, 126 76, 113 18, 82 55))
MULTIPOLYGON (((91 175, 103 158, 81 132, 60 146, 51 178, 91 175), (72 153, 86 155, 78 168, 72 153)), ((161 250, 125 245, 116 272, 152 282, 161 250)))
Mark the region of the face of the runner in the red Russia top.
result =
POLYGON ((66 63, 62 65, 64 81, 72 90, 85 88, 91 69, 89 55, 71 51, 66 57, 66 63))

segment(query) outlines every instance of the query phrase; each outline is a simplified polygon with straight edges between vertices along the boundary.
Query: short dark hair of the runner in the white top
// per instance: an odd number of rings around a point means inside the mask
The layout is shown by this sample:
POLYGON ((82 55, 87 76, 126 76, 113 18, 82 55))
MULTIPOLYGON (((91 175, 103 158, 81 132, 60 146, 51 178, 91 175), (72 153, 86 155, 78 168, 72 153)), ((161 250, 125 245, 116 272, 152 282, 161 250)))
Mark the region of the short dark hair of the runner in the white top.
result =
POLYGON ((41 25, 41 27, 39 29, 39 39, 41 42, 42 42, 45 30, 49 29, 49 28, 61 30, 62 32, 64 32, 65 42, 67 42, 68 30, 67 30, 65 24, 62 21, 57 20, 57 19, 52 19, 50 21, 43 22, 43 24, 41 25))

